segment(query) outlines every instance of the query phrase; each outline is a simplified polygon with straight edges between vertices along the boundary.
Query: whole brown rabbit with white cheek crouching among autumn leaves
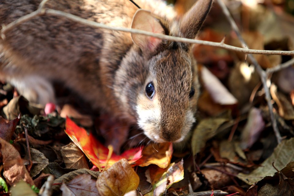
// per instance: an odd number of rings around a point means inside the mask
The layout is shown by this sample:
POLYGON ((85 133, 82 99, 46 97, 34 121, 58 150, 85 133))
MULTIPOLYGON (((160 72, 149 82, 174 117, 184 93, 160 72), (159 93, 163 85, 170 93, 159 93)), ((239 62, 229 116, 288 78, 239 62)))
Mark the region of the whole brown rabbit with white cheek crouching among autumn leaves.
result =
MULTIPOLYGON (((178 18, 156 0, 49 0, 61 10, 110 26, 194 39, 213 0, 198 0, 178 18)), ((40 0, 2 0, 0 24, 35 11, 40 0)), ((44 14, 0 39, 0 79, 29 101, 55 102, 52 82, 76 92, 93 108, 138 125, 154 142, 180 142, 195 123, 199 84, 192 44, 92 28, 44 14)))

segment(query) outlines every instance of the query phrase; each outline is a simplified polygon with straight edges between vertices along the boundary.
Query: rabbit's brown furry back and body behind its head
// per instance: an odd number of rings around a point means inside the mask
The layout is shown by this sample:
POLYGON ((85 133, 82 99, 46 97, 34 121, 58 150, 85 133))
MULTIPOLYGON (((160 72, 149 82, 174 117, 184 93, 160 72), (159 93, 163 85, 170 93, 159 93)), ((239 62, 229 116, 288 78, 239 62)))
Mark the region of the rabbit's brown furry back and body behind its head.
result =
MULTIPOLYGON (((39 4, 37 0, 0 2, 0 24, 7 25, 32 13, 39 4)), ((137 9, 128 0, 49 0, 45 8, 121 27, 130 27, 137 9)), ((107 104, 105 95, 111 95, 103 86, 111 86, 121 59, 132 45, 126 32, 92 28, 65 17, 37 16, 15 26, 0 39, 0 79, 19 87, 22 94, 28 94, 28 99, 43 104, 54 100, 49 83, 62 82, 93 107, 100 107, 107 104), (33 78, 42 85, 32 87, 33 78), (32 90, 23 87, 21 83, 26 82, 32 90), (51 93, 40 99, 40 89, 51 93)))

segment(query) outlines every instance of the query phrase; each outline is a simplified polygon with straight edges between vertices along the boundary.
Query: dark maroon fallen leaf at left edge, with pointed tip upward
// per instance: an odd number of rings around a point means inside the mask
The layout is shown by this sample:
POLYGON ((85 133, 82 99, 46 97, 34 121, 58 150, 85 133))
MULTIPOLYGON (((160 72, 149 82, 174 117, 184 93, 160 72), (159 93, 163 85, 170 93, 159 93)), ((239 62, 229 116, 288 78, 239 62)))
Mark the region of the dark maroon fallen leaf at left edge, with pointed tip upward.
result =
POLYGON ((9 121, 8 123, 6 123, 6 120, 0 116, 0 138, 9 141, 12 138, 13 132, 18 122, 19 116, 9 121))

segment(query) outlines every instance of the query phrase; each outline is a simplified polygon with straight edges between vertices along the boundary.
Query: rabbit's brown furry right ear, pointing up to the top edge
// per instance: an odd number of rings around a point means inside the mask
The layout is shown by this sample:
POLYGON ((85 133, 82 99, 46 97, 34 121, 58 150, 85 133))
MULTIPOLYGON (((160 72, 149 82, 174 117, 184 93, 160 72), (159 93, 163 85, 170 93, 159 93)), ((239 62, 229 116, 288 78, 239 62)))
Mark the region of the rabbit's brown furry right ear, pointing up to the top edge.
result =
POLYGON ((198 0, 180 20, 183 37, 194 39, 211 8, 213 0, 198 0))

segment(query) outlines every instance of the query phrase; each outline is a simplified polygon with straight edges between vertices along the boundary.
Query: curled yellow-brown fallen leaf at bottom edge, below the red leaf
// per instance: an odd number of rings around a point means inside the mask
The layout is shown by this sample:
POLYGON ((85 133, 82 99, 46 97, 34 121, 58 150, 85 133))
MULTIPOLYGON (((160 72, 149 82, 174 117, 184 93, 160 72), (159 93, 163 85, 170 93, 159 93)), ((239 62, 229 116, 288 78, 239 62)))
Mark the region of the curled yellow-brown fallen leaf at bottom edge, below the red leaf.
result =
POLYGON ((99 175, 96 186, 101 196, 124 195, 136 190, 139 181, 139 176, 128 161, 122 159, 99 175))

